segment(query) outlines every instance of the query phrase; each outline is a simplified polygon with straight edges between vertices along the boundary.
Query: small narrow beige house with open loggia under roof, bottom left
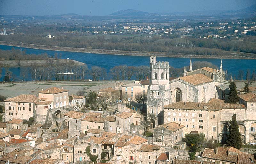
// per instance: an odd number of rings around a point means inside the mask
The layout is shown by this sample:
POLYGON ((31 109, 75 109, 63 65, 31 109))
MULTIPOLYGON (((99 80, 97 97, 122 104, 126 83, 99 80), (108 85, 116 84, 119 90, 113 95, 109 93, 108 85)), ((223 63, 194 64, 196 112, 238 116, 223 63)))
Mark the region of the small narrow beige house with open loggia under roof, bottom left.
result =
POLYGON ((74 145, 68 143, 61 145, 61 159, 68 163, 74 162, 74 145))

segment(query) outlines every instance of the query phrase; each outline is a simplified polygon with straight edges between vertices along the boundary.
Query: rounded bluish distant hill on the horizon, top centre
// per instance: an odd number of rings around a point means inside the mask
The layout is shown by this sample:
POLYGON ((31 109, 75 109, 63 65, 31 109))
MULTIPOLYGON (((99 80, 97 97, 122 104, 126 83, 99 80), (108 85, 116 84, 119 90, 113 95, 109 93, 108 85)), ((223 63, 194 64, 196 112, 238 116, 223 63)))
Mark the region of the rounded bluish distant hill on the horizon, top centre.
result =
POLYGON ((143 12, 139 10, 127 9, 127 10, 119 10, 110 14, 110 16, 126 16, 126 17, 147 17, 147 16, 158 16, 156 13, 143 12))

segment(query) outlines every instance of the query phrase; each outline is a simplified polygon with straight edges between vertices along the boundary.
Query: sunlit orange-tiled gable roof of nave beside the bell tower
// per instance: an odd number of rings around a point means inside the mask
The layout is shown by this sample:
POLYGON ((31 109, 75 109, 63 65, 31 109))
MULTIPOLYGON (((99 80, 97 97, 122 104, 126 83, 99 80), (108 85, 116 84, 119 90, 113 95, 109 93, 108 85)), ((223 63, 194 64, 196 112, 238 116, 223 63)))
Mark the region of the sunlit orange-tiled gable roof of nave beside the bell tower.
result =
POLYGON ((192 74, 189 76, 179 77, 181 80, 188 82, 192 85, 200 85, 207 82, 213 82, 210 77, 207 77, 203 74, 192 74))

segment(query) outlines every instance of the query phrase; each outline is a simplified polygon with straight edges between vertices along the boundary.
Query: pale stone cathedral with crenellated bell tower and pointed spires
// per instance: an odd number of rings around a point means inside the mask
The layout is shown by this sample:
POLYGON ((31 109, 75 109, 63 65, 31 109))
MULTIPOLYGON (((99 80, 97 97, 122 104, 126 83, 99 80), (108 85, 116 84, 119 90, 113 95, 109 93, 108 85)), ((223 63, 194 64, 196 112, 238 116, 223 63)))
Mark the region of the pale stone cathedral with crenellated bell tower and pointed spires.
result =
POLYGON ((225 80, 225 71, 209 67, 192 69, 190 59, 189 70, 184 68, 183 77, 169 80, 169 62, 157 62, 155 56, 150 57, 150 84, 147 92, 147 113, 157 116, 152 120, 163 124, 164 105, 175 102, 207 103, 211 98, 225 100, 228 98, 230 82, 225 80))

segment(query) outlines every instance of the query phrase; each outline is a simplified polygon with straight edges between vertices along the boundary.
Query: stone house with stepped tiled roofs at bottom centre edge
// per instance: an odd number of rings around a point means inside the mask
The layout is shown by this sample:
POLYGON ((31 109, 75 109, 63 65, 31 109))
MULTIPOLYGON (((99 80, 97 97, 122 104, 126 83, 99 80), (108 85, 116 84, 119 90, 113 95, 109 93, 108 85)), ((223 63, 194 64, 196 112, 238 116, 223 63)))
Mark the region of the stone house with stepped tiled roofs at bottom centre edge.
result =
POLYGON ((136 150, 148 140, 139 136, 122 135, 115 143, 115 159, 118 163, 134 163, 136 150))

